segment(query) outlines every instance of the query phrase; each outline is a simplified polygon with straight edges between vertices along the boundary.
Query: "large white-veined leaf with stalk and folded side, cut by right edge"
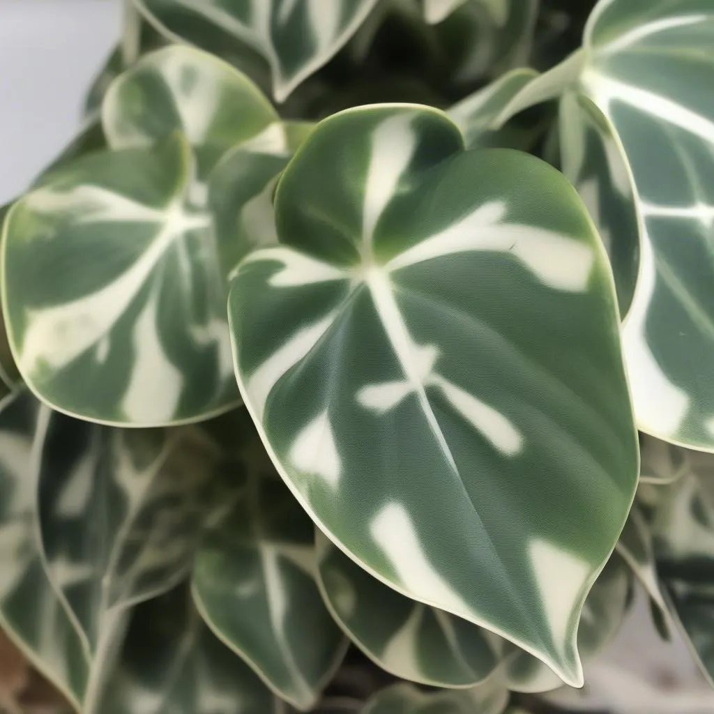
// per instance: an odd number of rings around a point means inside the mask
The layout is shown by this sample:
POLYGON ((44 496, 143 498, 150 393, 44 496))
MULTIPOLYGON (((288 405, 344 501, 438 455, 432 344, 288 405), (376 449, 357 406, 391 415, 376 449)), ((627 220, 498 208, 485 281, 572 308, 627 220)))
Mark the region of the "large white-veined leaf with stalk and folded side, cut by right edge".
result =
POLYGON ((563 78, 580 95, 562 105, 563 164, 580 188, 593 166, 584 197, 610 239, 621 307, 629 307, 623 341, 638 426, 704 451, 714 451, 705 367, 714 354, 713 43, 708 0, 600 0, 583 51, 501 115, 557 96, 563 78))

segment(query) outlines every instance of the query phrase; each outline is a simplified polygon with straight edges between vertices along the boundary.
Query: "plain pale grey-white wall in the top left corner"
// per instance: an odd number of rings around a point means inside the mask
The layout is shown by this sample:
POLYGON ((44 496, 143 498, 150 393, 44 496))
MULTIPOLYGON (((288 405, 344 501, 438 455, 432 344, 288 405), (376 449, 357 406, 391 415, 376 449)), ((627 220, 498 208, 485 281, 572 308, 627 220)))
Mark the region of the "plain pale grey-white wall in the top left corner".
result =
POLYGON ((72 138, 120 24, 120 0, 0 0, 0 204, 72 138))

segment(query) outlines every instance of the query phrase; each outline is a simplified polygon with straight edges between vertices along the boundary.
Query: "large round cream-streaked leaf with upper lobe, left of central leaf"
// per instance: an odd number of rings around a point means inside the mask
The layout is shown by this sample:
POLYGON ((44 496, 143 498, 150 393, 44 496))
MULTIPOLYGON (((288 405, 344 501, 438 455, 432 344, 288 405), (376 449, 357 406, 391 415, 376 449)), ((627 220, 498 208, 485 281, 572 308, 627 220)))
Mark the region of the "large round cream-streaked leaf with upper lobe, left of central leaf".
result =
POLYGON ((246 77, 178 46, 116 81, 103 125, 113 151, 52 171, 6 221, 19 370, 51 406, 103 423, 225 411, 238 401, 226 275, 271 238, 263 194, 288 133, 246 77))

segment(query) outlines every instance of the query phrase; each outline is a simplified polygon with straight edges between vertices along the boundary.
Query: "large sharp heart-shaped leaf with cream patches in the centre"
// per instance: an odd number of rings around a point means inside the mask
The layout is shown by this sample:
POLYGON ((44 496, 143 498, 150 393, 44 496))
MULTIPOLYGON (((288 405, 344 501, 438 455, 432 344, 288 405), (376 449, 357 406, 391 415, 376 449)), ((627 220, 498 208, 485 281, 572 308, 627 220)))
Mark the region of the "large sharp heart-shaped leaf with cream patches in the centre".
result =
POLYGON ((578 618, 638 451, 577 194, 524 154, 463 152, 439 111, 375 106, 318 125, 276 224, 229 313, 283 478, 373 575, 580 683, 578 618))

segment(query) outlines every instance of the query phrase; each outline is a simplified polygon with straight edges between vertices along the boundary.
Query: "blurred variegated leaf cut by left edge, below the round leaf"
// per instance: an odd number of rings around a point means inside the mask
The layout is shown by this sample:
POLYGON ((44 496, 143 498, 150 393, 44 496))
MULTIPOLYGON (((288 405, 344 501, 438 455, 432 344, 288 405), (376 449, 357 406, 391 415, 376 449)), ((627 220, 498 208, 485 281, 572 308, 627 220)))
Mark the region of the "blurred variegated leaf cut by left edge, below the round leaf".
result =
POLYGON ((46 575, 33 444, 49 408, 22 390, 0 402, 0 624, 79 710, 89 661, 46 575))

